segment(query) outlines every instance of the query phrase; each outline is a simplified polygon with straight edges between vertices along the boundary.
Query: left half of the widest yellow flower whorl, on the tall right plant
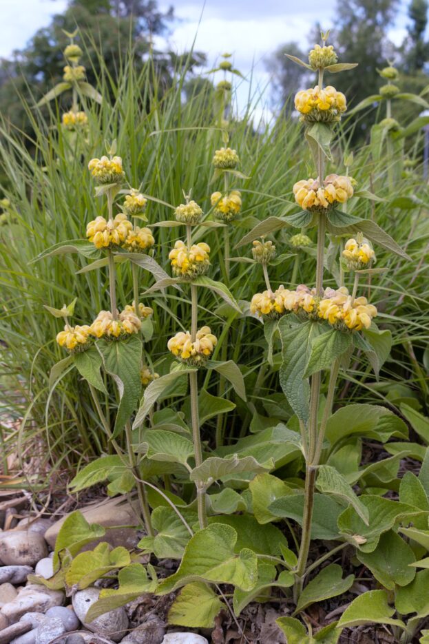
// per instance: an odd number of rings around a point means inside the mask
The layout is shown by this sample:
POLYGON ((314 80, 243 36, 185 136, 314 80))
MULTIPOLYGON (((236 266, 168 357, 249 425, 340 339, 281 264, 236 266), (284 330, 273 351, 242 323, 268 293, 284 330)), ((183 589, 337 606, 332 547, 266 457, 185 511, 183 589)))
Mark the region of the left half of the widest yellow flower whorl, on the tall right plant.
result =
POLYGON ((256 293, 250 303, 251 313, 265 318, 280 318, 285 313, 297 313, 305 318, 314 318, 317 312, 315 291, 300 284, 296 291, 280 286, 277 291, 256 293))

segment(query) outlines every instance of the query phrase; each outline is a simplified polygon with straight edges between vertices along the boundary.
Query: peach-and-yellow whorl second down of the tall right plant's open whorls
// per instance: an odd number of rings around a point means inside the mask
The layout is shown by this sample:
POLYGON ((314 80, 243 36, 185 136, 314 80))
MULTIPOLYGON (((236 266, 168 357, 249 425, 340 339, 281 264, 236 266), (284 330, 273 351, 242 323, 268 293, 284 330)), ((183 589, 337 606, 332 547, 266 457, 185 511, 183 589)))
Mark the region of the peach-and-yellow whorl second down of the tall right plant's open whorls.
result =
POLYGON ((350 177, 329 174, 320 185, 318 179, 302 179, 293 186, 295 201, 305 210, 324 211, 353 197, 350 177))

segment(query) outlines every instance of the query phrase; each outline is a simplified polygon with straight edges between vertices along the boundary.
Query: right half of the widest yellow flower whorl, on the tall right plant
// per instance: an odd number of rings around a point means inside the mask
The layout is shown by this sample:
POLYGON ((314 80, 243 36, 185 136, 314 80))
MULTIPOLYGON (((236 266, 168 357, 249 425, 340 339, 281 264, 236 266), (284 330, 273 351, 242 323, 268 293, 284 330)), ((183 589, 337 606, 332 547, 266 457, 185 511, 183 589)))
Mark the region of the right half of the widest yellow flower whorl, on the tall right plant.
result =
POLYGON ((347 289, 341 288, 320 300, 318 315, 340 331, 360 331, 369 329, 377 309, 364 297, 352 300, 347 289))

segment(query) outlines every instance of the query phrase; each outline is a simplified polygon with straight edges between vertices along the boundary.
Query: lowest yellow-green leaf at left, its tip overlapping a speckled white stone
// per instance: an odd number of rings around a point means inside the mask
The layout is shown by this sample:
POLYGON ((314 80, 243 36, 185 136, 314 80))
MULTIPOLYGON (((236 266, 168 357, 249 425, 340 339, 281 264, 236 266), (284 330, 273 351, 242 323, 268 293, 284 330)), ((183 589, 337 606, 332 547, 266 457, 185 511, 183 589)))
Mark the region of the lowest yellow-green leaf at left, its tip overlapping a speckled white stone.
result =
POLYGON ((137 599, 145 592, 154 592, 156 581, 148 579, 145 567, 141 563, 131 563, 118 572, 119 588, 103 588, 100 598, 94 602, 85 616, 85 622, 92 622, 97 617, 137 599))

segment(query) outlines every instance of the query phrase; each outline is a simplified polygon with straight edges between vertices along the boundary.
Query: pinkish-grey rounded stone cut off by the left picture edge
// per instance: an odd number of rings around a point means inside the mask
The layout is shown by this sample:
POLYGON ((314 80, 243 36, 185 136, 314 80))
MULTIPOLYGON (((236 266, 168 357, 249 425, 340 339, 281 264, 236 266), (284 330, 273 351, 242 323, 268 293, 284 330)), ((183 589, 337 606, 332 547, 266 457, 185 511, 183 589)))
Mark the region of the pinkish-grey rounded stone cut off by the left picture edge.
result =
POLYGON ((41 534, 6 530, 0 534, 0 560, 5 565, 34 565, 48 557, 48 546, 41 534))

